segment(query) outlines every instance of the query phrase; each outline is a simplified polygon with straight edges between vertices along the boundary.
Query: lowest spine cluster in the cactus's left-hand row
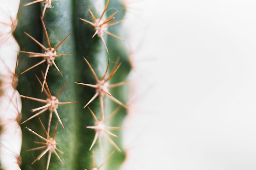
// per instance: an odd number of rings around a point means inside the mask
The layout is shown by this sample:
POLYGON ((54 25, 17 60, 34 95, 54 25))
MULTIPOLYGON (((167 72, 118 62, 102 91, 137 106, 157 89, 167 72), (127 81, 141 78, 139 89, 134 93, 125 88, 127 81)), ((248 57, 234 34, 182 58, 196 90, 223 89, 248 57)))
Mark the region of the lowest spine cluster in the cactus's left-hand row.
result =
POLYGON ((38 136, 40 139, 43 139, 44 141, 46 142, 36 142, 38 144, 44 144, 45 146, 39 146, 37 148, 32 148, 32 149, 29 149, 27 151, 31 151, 31 150, 38 150, 38 149, 42 149, 42 148, 46 148, 33 162, 32 164, 35 162, 35 161, 38 161, 41 159, 41 157, 43 157, 43 155, 45 155, 48 151, 49 151, 49 155, 48 155, 48 160, 47 160, 47 168, 46 170, 48 170, 49 168, 49 163, 50 163, 50 159, 51 159, 51 155, 52 155, 52 152, 54 152, 56 154, 56 156, 58 157, 58 159, 63 163, 63 161, 61 160, 60 156, 58 155, 58 153, 56 152, 56 150, 58 150, 58 152, 61 152, 61 153, 64 153, 62 152, 61 150, 59 150, 58 148, 56 148, 56 145, 58 143, 56 143, 55 141, 55 134, 56 134, 56 130, 57 130, 57 127, 58 127, 58 121, 56 123, 56 126, 55 126, 55 130, 54 130, 54 134, 52 137, 49 137, 49 132, 46 131, 45 129, 45 126, 43 125, 41 119, 39 118, 40 120, 40 123, 41 125, 43 126, 43 129, 45 131, 45 134, 47 135, 47 139, 42 137, 41 135, 39 135, 38 133, 34 132, 33 130, 31 130, 30 128, 27 128, 30 132, 32 132, 34 135, 38 136))

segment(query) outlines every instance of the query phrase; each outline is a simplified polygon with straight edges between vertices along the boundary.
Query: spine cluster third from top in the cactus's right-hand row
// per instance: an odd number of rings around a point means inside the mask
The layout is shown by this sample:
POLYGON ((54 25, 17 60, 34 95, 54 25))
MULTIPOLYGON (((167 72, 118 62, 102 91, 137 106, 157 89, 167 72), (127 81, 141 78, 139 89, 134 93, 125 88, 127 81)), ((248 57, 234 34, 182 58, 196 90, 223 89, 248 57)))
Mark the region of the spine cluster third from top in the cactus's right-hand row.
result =
MULTIPOLYGON (((106 121, 102 120, 101 118, 98 120, 96 115, 93 113, 93 111, 88 107, 88 109, 90 110, 90 113, 92 114, 92 117, 95 121, 94 126, 86 126, 86 128, 90 128, 90 129, 94 129, 96 131, 92 145, 90 147, 90 150, 92 149, 92 147, 94 146, 95 142, 97 141, 97 139, 101 136, 104 135, 104 137, 106 137, 106 139, 110 142, 110 144, 112 144, 119 152, 121 152, 121 149, 117 146, 117 144, 115 144, 114 141, 112 141, 112 139, 110 139, 110 137, 108 137, 107 134, 113 136, 113 137, 117 137, 117 135, 113 134, 112 132, 106 130, 106 129, 120 129, 121 127, 110 127, 110 126, 105 126, 106 121)), ((117 112, 114 111, 114 114, 116 114, 117 112)), ((110 117, 112 117, 113 115, 111 114, 110 117)), ((109 120, 109 119, 108 119, 109 120)), ((100 142, 101 145, 101 142, 100 142)), ((100 146, 102 148, 102 146, 100 146)), ((102 150, 103 152, 103 150, 102 150)))

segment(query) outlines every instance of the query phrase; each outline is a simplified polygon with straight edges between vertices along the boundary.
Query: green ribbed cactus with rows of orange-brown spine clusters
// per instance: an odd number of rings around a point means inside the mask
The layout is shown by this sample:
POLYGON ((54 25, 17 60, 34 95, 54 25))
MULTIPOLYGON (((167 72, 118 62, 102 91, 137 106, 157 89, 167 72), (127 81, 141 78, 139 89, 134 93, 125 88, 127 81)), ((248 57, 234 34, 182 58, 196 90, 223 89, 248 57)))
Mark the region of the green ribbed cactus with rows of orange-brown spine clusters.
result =
MULTIPOLYGON (((125 11, 121 0, 20 0, 18 24, 10 32, 20 47, 13 49, 18 63, 9 70, 18 75, 18 92, 12 86, 4 95, 7 78, 0 79, 1 101, 9 97, 1 105, 22 113, 21 120, 13 118, 22 130, 16 154, 22 163, 14 161, 15 169, 120 168, 131 69, 125 11)), ((13 170, 0 161, 2 169, 13 170)))

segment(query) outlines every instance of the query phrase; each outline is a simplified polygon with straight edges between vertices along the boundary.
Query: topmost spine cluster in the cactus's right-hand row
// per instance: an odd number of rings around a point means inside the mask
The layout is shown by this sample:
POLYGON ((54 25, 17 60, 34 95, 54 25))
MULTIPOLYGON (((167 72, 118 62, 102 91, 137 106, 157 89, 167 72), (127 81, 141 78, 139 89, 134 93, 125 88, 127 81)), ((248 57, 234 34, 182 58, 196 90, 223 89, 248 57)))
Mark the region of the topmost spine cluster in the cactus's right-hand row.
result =
POLYGON ((101 38, 101 41, 103 42, 103 44, 104 44, 104 46, 105 46, 107 52, 108 52, 108 48, 107 48, 106 42, 105 42, 105 40, 104 40, 104 38, 103 38, 103 34, 104 34, 104 33, 106 33, 106 34, 108 34, 108 35, 110 35, 110 36, 113 36, 113 37, 115 37, 115 38, 118 38, 118 39, 120 39, 120 40, 123 40, 123 39, 119 38, 117 35, 114 35, 114 34, 108 32, 108 31, 106 31, 106 27, 113 26, 113 25, 115 25, 115 24, 118 24, 118 23, 122 22, 122 20, 121 20, 121 21, 117 21, 117 22, 113 22, 113 23, 111 23, 111 24, 108 24, 110 21, 112 21, 112 20, 115 19, 114 15, 115 15, 118 11, 116 11, 115 13, 113 13, 112 15, 110 15, 106 20, 102 21, 103 15, 104 15, 104 13, 106 12, 106 9, 107 9, 107 7, 108 7, 108 2, 109 2, 109 0, 106 2, 105 8, 104 8, 104 10, 103 10, 103 12, 102 12, 102 14, 101 14, 101 17, 100 17, 99 19, 96 19, 95 16, 94 16, 94 14, 92 13, 92 11, 88 8, 88 11, 90 12, 90 14, 92 15, 92 18, 93 18, 93 20, 94 20, 94 23, 92 23, 92 22, 90 22, 90 21, 88 21, 88 20, 79 18, 80 20, 82 20, 82 21, 84 21, 84 22, 87 22, 88 24, 90 24, 90 25, 92 25, 92 26, 94 27, 95 33, 94 33, 94 35, 92 36, 92 38, 94 38, 94 36, 97 34, 97 35, 101 38))

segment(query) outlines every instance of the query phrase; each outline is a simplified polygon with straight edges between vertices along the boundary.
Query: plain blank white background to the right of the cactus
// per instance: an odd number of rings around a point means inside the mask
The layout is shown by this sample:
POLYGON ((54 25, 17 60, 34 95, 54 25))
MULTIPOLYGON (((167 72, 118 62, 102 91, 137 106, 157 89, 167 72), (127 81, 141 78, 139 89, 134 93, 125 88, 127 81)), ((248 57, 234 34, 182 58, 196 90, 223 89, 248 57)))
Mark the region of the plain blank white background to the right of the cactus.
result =
POLYGON ((255 170, 256 1, 130 6, 135 77, 144 78, 124 169, 255 170))

